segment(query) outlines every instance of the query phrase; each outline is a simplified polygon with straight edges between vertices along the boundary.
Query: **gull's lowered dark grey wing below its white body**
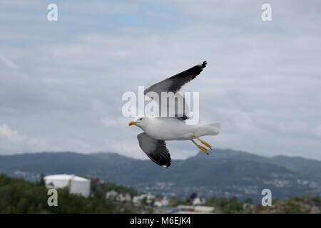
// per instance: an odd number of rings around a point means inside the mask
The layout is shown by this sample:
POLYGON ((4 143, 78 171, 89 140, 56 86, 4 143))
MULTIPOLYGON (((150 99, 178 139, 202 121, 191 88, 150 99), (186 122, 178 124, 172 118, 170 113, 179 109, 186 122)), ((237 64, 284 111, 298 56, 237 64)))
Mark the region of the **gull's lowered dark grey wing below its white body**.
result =
POLYGON ((153 162, 163 167, 170 166, 170 153, 168 152, 165 141, 151 138, 146 133, 138 134, 137 139, 141 150, 143 150, 153 162))

